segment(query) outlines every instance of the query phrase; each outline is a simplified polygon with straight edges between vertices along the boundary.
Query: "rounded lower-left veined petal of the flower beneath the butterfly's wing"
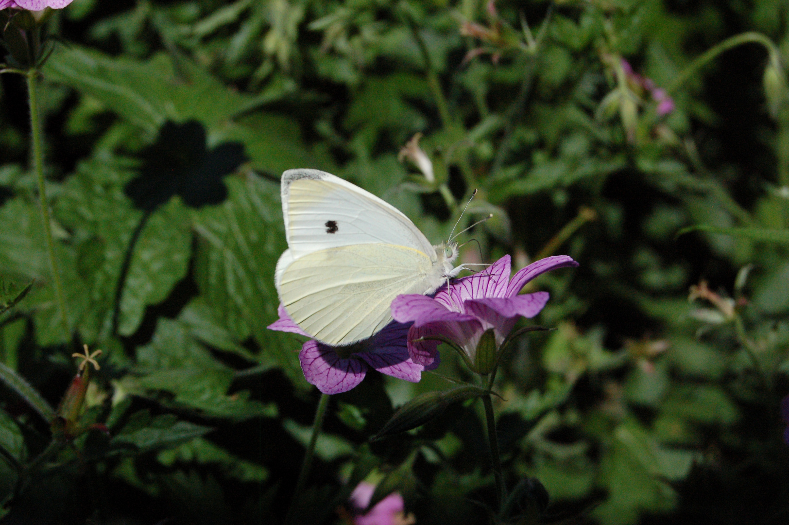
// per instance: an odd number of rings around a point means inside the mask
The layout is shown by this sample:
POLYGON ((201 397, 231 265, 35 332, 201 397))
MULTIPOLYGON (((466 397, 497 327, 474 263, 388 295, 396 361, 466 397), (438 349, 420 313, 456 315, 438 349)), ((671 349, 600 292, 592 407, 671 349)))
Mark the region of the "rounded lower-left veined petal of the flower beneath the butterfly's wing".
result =
POLYGON ((356 387, 367 373, 357 358, 342 359, 335 349, 315 340, 304 343, 298 354, 301 371, 309 384, 324 394, 339 394, 356 387))

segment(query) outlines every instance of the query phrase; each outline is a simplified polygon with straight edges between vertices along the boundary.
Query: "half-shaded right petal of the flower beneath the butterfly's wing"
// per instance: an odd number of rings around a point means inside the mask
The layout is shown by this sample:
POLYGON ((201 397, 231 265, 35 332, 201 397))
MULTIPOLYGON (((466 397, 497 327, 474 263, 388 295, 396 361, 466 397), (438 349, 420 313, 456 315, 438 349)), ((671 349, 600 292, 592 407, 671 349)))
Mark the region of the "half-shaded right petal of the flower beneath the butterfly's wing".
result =
POLYGON ((410 324, 391 322, 370 340, 370 351, 355 355, 380 373, 417 383, 422 378, 424 366, 417 365, 409 358, 406 339, 409 328, 410 324))

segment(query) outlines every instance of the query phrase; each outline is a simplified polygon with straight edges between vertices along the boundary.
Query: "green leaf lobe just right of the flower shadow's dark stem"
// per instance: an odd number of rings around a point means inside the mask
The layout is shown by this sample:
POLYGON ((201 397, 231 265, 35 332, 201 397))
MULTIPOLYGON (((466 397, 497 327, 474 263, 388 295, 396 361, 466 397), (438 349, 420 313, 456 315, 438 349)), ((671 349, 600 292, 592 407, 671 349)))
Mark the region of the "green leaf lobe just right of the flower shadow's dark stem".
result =
POLYGON ((136 332, 145 307, 162 302, 186 276, 192 254, 189 214, 171 200, 154 212, 134 246, 121 299, 118 333, 136 332))

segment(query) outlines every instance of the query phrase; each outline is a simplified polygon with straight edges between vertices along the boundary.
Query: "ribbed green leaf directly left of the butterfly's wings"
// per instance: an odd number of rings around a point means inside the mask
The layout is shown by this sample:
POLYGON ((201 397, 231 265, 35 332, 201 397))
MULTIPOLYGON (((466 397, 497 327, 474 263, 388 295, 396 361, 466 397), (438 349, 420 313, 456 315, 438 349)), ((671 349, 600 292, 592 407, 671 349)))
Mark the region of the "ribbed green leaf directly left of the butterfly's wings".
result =
POLYGON ((226 182, 227 201, 195 212, 197 286, 214 319, 236 340, 256 339, 263 366, 278 366, 308 388, 295 354, 301 343, 266 328, 278 319, 274 270, 286 249, 279 186, 256 177, 226 182))

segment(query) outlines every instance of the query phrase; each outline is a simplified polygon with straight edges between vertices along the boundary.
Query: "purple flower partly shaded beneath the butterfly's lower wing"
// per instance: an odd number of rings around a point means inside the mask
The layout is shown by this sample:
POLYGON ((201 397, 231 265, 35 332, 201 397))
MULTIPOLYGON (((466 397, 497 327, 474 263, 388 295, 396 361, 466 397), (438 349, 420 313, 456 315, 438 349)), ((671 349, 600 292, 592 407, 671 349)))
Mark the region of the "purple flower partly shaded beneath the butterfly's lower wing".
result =
MULTIPOLYGON (((277 310, 279 320, 270 324, 271 330, 293 332, 308 336, 288 315, 284 306, 277 310)), ((423 366, 409 358, 406 336, 411 324, 391 322, 370 339, 353 343, 348 347, 330 347, 311 339, 304 343, 298 354, 301 370, 310 384, 324 394, 338 394, 356 387, 367 374, 368 366, 385 373, 416 383, 422 371, 438 366, 423 366)), ((433 351, 438 346, 432 341, 433 351)))

